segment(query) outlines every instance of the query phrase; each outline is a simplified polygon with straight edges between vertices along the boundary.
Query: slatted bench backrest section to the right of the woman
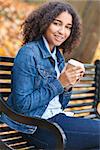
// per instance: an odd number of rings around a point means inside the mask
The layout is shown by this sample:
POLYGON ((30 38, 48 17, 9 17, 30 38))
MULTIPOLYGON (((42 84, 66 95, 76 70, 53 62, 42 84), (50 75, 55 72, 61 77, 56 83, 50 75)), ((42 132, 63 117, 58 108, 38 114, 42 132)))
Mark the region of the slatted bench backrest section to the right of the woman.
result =
POLYGON ((67 110, 76 117, 97 118, 97 104, 100 102, 100 60, 95 64, 85 64, 85 75, 72 91, 67 110))

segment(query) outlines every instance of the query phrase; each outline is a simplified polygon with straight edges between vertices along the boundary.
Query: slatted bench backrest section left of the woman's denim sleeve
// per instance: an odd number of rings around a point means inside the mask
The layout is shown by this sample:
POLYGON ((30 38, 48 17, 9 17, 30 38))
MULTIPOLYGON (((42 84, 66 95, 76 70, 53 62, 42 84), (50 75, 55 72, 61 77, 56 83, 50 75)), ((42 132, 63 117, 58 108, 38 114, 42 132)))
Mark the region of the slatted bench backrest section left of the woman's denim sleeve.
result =
POLYGON ((0 57, 0 96, 7 99, 11 92, 11 70, 14 58, 0 57))

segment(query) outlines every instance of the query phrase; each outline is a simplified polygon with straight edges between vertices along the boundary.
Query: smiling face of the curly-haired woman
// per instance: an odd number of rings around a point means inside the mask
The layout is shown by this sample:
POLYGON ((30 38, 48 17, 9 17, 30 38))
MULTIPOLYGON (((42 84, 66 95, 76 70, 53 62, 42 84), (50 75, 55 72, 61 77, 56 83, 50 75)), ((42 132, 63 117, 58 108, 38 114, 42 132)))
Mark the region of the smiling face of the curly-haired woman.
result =
POLYGON ((72 16, 67 11, 54 19, 44 34, 51 51, 54 46, 60 46, 70 36, 71 28, 72 16))

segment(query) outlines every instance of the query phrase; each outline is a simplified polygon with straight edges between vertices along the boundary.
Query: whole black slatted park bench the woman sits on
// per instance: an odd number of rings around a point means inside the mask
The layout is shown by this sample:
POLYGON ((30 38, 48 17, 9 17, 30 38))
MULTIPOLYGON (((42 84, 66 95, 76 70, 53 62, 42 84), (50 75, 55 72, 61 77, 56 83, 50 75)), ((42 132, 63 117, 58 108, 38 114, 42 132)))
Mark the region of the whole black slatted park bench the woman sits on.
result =
MULTIPOLYGON (((26 117, 12 111, 6 104, 11 92, 11 69, 14 58, 0 57, 0 113, 5 113, 11 119, 28 125, 34 125, 49 130, 55 135, 56 150, 63 150, 66 137, 63 130, 57 125, 38 117, 26 117)), ((86 73, 80 83, 76 84, 68 108, 75 117, 98 119, 97 106, 100 101, 100 60, 95 64, 85 64, 86 73)), ((0 122, 0 150, 33 150, 36 147, 24 137, 24 134, 11 129, 0 122)))

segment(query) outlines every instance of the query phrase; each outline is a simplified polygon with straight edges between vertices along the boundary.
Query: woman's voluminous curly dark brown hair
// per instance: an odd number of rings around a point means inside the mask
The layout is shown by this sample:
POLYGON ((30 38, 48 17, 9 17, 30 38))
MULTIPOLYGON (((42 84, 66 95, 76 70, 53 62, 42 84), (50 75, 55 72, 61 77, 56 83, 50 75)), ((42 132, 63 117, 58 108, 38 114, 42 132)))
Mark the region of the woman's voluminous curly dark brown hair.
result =
POLYGON ((72 30, 69 38, 59 48, 63 52, 71 52, 73 48, 80 44, 81 19, 69 3, 61 1, 44 3, 38 9, 31 12, 23 23, 23 44, 38 40, 54 19, 64 11, 68 11, 72 15, 72 30))

